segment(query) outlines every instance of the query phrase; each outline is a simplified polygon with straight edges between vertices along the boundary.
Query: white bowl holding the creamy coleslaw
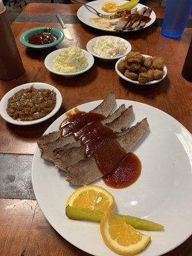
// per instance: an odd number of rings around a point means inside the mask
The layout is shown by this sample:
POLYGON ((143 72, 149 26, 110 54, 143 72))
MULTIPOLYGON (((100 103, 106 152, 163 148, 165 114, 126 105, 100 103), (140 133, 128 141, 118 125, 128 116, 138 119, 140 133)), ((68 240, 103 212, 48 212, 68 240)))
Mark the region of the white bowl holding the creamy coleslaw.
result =
POLYGON ((97 58, 100 58, 101 60, 105 60, 105 61, 112 61, 112 60, 118 60, 120 58, 122 58, 123 56, 127 55, 128 52, 131 51, 131 44, 125 40, 124 38, 121 38, 119 36, 97 36, 97 37, 94 37, 92 38, 87 44, 86 44, 86 49, 88 52, 90 52, 93 56, 97 57, 97 58), (102 57, 102 56, 99 56, 97 55, 94 51, 93 51, 93 48, 92 48, 92 45, 93 43, 95 43, 97 40, 101 39, 101 38, 104 38, 104 37, 113 37, 113 38, 120 38, 124 43, 125 43, 125 46, 127 47, 127 50, 125 51, 124 54, 122 55, 119 55, 119 56, 115 56, 115 57, 102 57))

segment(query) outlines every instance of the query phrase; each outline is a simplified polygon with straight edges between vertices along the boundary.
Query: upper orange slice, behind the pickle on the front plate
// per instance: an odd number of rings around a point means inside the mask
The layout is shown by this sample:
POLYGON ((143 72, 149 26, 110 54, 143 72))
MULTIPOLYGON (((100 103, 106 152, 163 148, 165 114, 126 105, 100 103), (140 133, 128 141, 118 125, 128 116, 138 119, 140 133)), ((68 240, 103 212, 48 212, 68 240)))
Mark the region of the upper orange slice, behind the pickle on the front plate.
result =
POLYGON ((115 199, 104 188, 99 186, 84 186, 70 195, 67 205, 79 209, 104 212, 111 205, 115 205, 115 199))

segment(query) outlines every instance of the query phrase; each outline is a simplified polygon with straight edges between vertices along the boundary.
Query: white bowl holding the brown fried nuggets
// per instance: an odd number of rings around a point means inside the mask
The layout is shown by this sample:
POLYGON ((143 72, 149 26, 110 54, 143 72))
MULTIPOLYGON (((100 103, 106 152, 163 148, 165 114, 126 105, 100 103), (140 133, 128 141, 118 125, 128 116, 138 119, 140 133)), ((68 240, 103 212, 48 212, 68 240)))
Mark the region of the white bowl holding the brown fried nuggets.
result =
MULTIPOLYGON (((145 58, 147 57, 152 57, 152 56, 149 56, 149 55, 145 55, 145 54, 142 54, 145 58)), ((141 84, 139 83, 138 81, 134 81, 134 80, 131 80, 129 79, 128 77, 125 77, 124 74, 122 74, 122 72, 120 72, 117 68, 118 66, 118 63, 121 61, 121 60, 124 60, 125 59, 125 56, 123 58, 121 58, 120 60, 116 61, 116 64, 115 64, 115 71, 116 73, 118 74, 118 76, 122 77, 122 79, 124 79, 125 81, 128 81, 132 84, 141 84)), ((141 85, 150 85, 150 84, 156 84, 156 83, 159 83, 160 81, 162 81, 164 79, 164 77, 166 77, 166 74, 167 74, 167 68, 166 66, 164 65, 163 67, 163 77, 161 79, 158 79, 158 80, 153 80, 153 81, 150 81, 148 83, 145 83, 145 84, 141 84, 141 85)))

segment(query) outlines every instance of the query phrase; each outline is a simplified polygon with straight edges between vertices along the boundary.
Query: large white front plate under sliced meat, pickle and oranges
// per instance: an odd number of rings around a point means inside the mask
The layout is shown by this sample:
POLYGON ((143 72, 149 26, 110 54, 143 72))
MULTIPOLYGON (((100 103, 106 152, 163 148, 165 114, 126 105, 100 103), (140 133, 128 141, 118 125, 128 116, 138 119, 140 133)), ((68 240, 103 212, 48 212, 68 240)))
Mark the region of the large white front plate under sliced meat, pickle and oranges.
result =
MULTIPOLYGON (((101 101, 78 106, 90 111, 101 101)), ((166 253, 191 235, 192 175, 191 134, 172 116, 163 111, 131 100, 116 100, 133 106, 135 122, 147 117, 150 131, 133 152, 140 157, 142 170, 139 179, 125 189, 109 188, 100 179, 95 184, 108 189, 115 196, 116 211, 156 221, 164 225, 162 232, 145 232, 152 243, 142 256, 166 253)), ((58 130, 65 114, 60 116, 45 134, 58 130)), ((102 241, 99 224, 74 221, 65 216, 65 204, 74 188, 65 180, 65 173, 41 159, 36 148, 32 166, 33 189, 45 218, 68 242, 96 256, 115 256, 102 241)))

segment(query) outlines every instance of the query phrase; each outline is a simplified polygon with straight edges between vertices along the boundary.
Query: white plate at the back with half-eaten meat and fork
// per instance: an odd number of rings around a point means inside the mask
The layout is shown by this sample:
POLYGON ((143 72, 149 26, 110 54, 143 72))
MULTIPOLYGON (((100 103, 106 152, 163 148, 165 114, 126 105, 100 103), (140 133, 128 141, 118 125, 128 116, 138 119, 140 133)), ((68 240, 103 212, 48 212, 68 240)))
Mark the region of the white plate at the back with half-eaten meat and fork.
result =
MULTIPOLYGON (((115 0, 115 3, 118 4, 125 4, 129 1, 124 1, 124 0, 115 0)), ((97 10, 98 12, 102 13, 102 14, 113 14, 113 13, 107 13, 104 12, 102 10, 102 4, 106 3, 106 0, 97 0, 97 1, 92 1, 92 2, 88 2, 88 5, 92 6, 93 8, 95 8, 95 10, 97 10)), ((138 10, 140 10, 143 7, 147 7, 143 4, 137 4, 137 6, 135 6, 138 8, 138 10)), ((104 30, 104 31, 111 31, 111 32, 115 32, 118 33, 117 31, 115 31, 113 28, 101 28, 100 26, 97 26, 97 24, 95 24, 94 22, 92 22, 90 20, 90 18, 96 18, 98 17, 95 13, 90 12, 85 6, 81 6, 79 8, 79 10, 77 11, 77 17, 79 18, 79 20, 81 20, 81 22, 83 22, 84 24, 92 27, 92 28, 97 28, 100 30, 104 30)), ((150 15, 150 22, 148 22, 144 28, 147 28, 148 26, 150 26, 152 23, 154 23, 154 21, 156 20, 156 13, 154 13, 154 11, 152 10, 152 13, 150 15)), ((141 28, 143 29, 143 28, 141 28)), ((128 31, 124 31, 124 32, 131 32, 131 31, 136 31, 136 30, 140 30, 140 29, 133 29, 133 30, 128 30, 128 31)))

